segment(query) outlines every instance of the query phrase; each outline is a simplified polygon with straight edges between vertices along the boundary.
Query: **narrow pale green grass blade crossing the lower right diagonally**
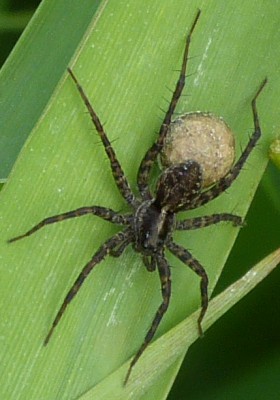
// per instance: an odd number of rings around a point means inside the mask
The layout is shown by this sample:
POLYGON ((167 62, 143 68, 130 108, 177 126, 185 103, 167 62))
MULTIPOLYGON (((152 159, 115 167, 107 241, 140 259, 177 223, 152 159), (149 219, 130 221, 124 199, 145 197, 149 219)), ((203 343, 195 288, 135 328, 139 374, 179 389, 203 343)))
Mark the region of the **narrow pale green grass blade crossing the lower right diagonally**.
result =
MULTIPOLYGON (((241 279, 230 285, 221 294, 213 298, 209 303, 207 316, 204 320, 205 331, 210 328, 223 314, 232 308, 238 301, 245 297, 252 289, 262 282, 280 263, 280 249, 276 250, 264 260, 251 268, 241 279)), ((182 357, 186 350, 197 340, 197 318, 199 312, 194 312, 188 318, 180 322, 166 334, 162 335, 146 351, 145 356, 139 362, 139 368, 135 369, 131 382, 124 389, 116 384, 121 381, 129 364, 126 363, 111 376, 100 382, 79 400, 129 399, 133 398, 153 399, 147 391, 158 382, 170 365, 182 357), (159 368, 155 368, 155 364, 159 368), (139 384, 141 382, 141 384, 139 384), (113 390, 112 390, 113 389, 113 390)))

